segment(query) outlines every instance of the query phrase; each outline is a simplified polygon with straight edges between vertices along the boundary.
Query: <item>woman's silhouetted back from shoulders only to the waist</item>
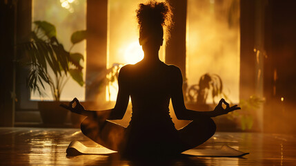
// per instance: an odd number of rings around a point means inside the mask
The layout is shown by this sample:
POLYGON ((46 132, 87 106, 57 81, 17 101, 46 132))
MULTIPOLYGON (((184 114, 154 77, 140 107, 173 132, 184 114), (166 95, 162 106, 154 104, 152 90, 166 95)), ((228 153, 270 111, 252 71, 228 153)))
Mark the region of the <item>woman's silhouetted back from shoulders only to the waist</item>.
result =
POLYGON ((163 62, 146 65, 139 62, 122 68, 123 87, 128 89, 132 100, 132 120, 137 126, 165 125, 175 128, 171 121, 168 105, 174 89, 174 71, 176 66, 163 62), (149 122, 149 124, 147 124, 149 122))

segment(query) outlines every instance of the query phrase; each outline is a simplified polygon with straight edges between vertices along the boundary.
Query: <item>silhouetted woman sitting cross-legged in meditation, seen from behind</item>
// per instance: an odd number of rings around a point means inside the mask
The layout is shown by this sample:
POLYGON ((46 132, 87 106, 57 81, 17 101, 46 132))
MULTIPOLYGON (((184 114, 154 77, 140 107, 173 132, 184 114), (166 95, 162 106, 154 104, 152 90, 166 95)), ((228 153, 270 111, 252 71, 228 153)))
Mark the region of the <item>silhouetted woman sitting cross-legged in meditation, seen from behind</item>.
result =
POLYGON ((130 156, 167 156, 197 147, 206 142, 216 130, 211 117, 239 109, 221 99, 214 111, 186 109, 182 93, 182 75, 177 66, 159 60, 159 48, 164 39, 166 19, 169 17, 166 3, 139 5, 139 44, 144 59, 135 65, 121 68, 118 77, 119 91, 114 109, 86 111, 75 98, 68 109, 88 116, 81 123, 81 131, 88 138, 130 156), (124 117, 128 100, 132 100, 132 118, 127 128, 108 120, 124 117), (168 105, 172 100, 179 120, 192 120, 186 127, 175 129, 168 105), (73 108, 72 104, 76 102, 73 108), (226 109, 221 105, 224 102, 226 109))

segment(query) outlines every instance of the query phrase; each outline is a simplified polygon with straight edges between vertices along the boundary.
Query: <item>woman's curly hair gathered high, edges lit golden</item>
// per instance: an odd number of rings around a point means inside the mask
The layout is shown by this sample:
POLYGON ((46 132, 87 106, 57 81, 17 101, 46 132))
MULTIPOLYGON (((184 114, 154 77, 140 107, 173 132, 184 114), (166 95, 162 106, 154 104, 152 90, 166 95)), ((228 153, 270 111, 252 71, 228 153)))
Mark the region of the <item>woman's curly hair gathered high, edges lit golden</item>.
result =
POLYGON ((150 1, 147 4, 140 3, 137 12, 137 21, 141 33, 149 35, 164 35, 163 27, 166 27, 166 37, 169 36, 168 29, 172 24, 170 6, 165 2, 150 1))

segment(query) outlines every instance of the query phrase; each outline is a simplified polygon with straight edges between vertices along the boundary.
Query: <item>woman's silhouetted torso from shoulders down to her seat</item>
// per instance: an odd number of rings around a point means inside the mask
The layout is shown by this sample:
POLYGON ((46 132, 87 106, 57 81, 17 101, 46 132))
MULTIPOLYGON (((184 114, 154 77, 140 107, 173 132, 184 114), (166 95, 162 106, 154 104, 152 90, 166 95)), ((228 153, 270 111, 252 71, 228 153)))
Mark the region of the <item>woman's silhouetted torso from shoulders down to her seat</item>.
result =
POLYGON ((121 68, 123 87, 128 89, 132 100, 132 119, 127 130, 129 153, 143 149, 148 154, 155 154, 155 150, 161 149, 167 153, 172 145, 179 142, 168 109, 175 86, 175 68, 160 61, 149 65, 139 62, 121 68))

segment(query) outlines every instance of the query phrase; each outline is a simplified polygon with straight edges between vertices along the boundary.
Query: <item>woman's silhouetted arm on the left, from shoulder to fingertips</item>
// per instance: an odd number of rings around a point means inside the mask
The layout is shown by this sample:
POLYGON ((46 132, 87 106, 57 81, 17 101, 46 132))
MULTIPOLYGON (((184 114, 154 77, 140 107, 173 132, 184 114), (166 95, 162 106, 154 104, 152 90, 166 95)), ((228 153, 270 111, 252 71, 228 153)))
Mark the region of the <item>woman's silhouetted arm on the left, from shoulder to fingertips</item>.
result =
POLYGON ((68 105, 61 104, 61 107, 72 111, 73 113, 78 113, 83 116, 103 118, 108 120, 118 120, 124 117, 126 109, 128 107, 129 93, 126 84, 126 69, 122 67, 118 76, 118 94, 115 107, 113 109, 106 109, 101 111, 89 111, 84 109, 77 98, 74 98, 72 102, 68 105))

